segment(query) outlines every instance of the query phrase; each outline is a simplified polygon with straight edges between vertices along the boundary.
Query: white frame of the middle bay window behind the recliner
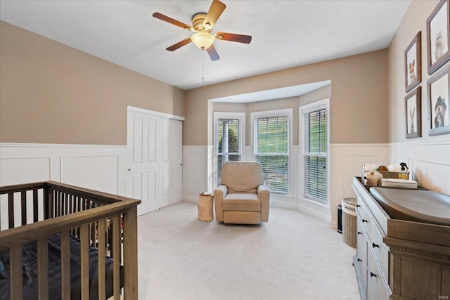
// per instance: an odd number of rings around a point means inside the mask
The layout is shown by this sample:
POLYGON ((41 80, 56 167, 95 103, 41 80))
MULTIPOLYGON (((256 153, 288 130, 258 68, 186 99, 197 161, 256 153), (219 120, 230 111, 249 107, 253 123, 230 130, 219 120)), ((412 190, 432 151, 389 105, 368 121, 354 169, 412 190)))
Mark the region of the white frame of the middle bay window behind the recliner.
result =
POLYGON ((274 195, 292 197, 293 196, 293 109, 285 108, 281 110, 265 110, 261 112, 251 112, 251 141, 252 141, 252 159, 257 161, 257 134, 255 130, 257 129, 257 119, 264 117, 288 117, 288 193, 276 193, 271 191, 274 195))

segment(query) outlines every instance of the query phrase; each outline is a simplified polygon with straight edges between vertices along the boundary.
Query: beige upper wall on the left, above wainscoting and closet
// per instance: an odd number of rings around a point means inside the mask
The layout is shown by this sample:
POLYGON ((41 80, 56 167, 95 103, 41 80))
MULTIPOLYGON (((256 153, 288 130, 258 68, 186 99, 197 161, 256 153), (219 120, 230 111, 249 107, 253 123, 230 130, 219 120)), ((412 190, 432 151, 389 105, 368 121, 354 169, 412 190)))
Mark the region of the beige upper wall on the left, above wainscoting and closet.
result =
POLYGON ((127 105, 184 116, 184 91, 0 22, 0 142, 125 145, 127 105))

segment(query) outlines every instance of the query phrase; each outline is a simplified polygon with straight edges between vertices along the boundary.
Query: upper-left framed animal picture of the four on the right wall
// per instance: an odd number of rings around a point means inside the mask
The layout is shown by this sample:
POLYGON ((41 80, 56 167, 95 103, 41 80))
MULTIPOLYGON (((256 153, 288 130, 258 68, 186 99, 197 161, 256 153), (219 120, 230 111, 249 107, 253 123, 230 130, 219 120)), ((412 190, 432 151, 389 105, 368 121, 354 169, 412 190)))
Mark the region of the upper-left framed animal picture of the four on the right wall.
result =
POLYGON ((409 43, 405 50, 405 91, 408 93, 422 82, 421 32, 409 43))

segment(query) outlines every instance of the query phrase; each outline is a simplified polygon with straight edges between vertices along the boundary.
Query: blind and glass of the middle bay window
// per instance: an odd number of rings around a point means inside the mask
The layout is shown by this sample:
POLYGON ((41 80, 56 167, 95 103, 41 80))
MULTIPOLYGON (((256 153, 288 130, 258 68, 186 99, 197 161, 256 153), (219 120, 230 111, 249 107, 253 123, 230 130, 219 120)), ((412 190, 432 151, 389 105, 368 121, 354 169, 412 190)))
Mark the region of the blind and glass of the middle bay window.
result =
POLYGON ((260 117, 255 122, 255 159, 262 165, 271 192, 289 193, 288 116, 260 117))

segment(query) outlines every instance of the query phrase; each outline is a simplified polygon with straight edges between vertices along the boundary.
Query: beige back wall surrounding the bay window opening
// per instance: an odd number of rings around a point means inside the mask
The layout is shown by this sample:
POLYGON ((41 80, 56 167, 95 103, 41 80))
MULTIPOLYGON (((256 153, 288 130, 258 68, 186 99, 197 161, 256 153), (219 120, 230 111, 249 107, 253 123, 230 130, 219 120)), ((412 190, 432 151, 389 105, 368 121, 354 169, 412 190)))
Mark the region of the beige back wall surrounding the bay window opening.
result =
POLYGON ((387 143, 387 50, 380 50, 186 91, 184 145, 208 145, 209 99, 324 80, 332 83, 331 143, 387 143))

